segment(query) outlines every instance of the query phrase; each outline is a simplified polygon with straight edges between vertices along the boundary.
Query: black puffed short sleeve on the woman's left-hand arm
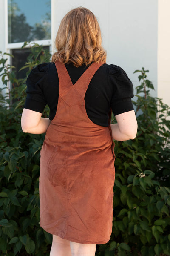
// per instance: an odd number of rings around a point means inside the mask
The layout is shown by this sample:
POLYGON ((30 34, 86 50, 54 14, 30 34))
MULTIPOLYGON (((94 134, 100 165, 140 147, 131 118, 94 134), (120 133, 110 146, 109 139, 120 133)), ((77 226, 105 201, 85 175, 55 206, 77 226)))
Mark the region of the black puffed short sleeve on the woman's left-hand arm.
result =
POLYGON ((43 63, 31 70, 26 85, 26 102, 24 108, 42 113, 46 101, 43 87, 47 83, 48 63, 43 63))

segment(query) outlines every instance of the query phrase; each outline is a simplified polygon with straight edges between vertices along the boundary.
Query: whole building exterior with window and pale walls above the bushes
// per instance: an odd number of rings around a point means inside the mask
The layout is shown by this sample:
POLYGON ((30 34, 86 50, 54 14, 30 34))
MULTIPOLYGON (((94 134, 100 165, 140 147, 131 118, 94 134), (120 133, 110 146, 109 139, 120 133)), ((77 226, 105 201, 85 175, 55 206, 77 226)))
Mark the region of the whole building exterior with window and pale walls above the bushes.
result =
POLYGON ((98 18, 107 63, 121 66, 134 88, 133 72, 149 69, 151 94, 170 105, 170 0, 0 0, 0 51, 24 59, 20 48, 29 39, 53 52, 62 17, 78 6, 98 18))

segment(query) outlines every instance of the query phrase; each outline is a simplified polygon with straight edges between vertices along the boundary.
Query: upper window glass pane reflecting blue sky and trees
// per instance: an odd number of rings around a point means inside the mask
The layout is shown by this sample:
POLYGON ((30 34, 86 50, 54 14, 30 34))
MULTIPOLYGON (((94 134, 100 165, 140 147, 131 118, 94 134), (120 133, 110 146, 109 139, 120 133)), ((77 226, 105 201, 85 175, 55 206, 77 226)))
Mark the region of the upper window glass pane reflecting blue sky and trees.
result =
POLYGON ((51 0, 8 0, 8 43, 51 39, 51 0))

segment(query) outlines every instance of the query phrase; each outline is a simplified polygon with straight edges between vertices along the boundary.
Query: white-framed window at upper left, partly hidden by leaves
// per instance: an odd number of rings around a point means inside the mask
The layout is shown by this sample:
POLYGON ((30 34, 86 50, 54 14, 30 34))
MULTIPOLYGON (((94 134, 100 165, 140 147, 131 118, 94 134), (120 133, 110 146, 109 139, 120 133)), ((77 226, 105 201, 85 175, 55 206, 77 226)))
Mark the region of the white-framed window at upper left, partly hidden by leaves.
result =
MULTIPOLYGON (((34 41, 51 49, 51 0, 8 0, 8 45, 14 58, 11 64, 19 70, 26 62, 29 49, 25 41, 34 41)), ((26 70, 18 73, 24 78, 26 70)))

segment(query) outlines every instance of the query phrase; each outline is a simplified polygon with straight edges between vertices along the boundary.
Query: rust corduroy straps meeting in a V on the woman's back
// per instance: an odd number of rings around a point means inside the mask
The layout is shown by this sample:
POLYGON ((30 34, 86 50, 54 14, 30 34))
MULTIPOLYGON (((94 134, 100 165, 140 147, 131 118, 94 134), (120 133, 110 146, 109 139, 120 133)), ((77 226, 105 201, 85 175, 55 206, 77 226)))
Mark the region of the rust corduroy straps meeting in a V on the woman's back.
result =
POLYGON ((55 66, 58 72, 58 78, 59 78, 59 96, 64 95, 69 89, 74 88, 77 90, 79 95, 82 96, 84 99, 85 92, 88 88, 88 85, 96 73, 97 69, 99 69, 100 66, 102 66, 102 62, 99 63, 92 63, 88 69, 85 70, 85 72, 79 77, 76 83, 72 83, 71 78, 68 74, 68 71, 64 64, 62 64, 59 61, 55 62, 55 66))

